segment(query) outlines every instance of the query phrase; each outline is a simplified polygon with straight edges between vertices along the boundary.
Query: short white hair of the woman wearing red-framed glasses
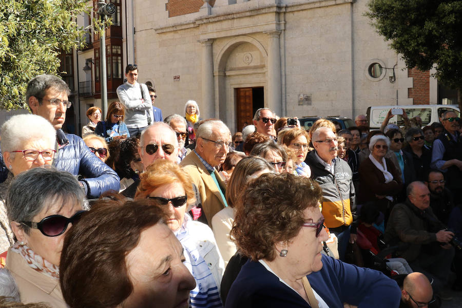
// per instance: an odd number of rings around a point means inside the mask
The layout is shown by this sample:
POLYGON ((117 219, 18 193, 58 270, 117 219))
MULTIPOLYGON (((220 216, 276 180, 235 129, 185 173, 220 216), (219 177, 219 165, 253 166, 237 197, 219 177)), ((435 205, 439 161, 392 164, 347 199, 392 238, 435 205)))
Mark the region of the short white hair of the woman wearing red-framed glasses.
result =
POLYGON ((23 144, 29 140, 44 140, 50 148, 56 142, 56 130, 45 118, 35 114, 13 115, 0 128, 2 153, 23 150, 23 144))

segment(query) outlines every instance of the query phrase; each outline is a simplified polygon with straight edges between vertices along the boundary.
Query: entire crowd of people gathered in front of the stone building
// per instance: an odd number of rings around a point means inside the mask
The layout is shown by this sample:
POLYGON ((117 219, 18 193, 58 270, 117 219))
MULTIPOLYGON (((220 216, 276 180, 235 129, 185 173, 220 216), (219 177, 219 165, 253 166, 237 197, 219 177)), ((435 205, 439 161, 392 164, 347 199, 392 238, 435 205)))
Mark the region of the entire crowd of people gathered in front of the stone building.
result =
POLYGON ((125 75, 83 139, 62 130, 53 75, 0 128, 0 303, 437 307, 462 289, 453 111, 306 131, 260 108, 232 134, 192 100, 163 119, 138 67, 125 75))

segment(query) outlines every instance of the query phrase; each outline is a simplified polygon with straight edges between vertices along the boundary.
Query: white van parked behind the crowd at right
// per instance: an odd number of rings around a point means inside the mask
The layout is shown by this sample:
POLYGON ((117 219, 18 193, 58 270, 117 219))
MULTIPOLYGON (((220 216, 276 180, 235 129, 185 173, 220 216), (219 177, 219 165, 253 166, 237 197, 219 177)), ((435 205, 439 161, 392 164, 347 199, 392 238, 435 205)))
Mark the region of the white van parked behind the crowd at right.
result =
MULTIPOLYGON (((440 122, 441 114, 447 110, 452 110, 457 113, 457 117, 460 115, 460 109, 458 105, 405 105, 405 106, 377 106, 369 107, 367 117, 369 120, 370 129, 380 129, 380 125, 387 117, 387 113, 392 108, 405 109, 408 114, 408 118, 414 118, 417 115, 422 119, 422 127, 432 124, 433 122, 440 122)), ((402 115, 393 115, 388 124, 397 124, 403 126, 402 115)))

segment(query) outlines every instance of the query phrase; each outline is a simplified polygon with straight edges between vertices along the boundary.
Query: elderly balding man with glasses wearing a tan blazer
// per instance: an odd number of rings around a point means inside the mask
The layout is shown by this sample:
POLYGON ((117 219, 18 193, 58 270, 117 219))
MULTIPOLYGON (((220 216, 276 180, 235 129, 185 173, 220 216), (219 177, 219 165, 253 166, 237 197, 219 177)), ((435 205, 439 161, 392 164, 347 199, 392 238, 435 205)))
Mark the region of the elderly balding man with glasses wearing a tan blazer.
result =
POLYGON ((197 130, 195 150, 180 163, 199 190, 203 215, 208 223, 227 206, 226 185, 218 174, 217 166, 226 159, 230 146, 229 128, 219 120, 206 121, 197 130))

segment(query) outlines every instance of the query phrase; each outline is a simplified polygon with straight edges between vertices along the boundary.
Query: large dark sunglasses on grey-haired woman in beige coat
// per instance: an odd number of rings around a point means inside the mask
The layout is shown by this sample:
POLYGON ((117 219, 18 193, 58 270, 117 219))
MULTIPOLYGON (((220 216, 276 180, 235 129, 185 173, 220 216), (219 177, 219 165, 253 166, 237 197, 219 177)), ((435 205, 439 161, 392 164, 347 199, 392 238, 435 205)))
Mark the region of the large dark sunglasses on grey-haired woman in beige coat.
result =
POLYGON ((80 210, 72 215, 71 218, 67 218, 62 215, 51 215, 45 217, 40 222, 21 221, 21 223, 29 228, 39 229, 44 236, 59 236, 66 231, 69 223, 74 224, 78 222, 82 214, 85 212, 86 210, 80 210))

